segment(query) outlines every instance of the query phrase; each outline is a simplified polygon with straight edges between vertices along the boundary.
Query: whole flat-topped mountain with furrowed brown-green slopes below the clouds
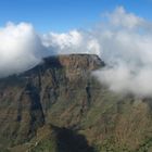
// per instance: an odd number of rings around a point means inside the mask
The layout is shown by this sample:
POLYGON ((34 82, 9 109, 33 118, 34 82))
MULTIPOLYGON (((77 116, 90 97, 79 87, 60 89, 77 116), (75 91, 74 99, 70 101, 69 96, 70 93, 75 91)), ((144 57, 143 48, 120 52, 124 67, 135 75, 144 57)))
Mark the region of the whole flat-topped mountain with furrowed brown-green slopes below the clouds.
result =
POLYGON ((93 54, 51 56, 0 79, 1 152, 152 151, 151 99, 110 92, 93 54))

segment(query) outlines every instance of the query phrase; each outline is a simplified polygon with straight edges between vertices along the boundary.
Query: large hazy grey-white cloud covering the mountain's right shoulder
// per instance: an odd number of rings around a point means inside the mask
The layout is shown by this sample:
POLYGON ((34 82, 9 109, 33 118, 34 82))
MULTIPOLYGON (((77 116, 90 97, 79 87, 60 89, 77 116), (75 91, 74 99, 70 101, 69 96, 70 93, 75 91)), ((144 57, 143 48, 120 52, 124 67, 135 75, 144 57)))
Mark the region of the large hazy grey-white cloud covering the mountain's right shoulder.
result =
POLYGON ((107 66, 96 76, 114 92, 152 97, 152 24, 122 7, 106 24, 97 37, 107 66))

